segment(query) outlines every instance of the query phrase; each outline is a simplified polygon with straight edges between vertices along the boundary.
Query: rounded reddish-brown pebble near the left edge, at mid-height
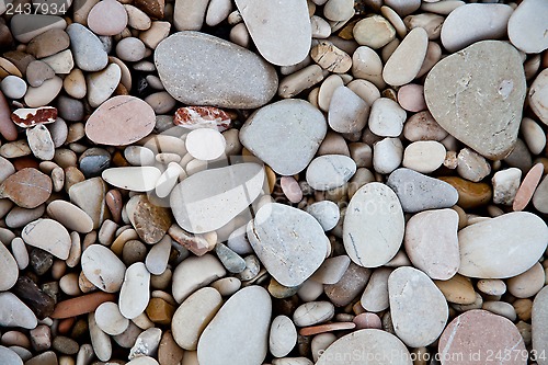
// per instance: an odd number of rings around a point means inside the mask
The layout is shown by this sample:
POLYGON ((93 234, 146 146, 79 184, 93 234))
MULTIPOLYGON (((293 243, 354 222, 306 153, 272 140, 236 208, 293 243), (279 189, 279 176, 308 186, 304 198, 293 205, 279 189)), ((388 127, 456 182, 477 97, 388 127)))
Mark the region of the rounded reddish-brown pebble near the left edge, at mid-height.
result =
POLYGON ((48 175, 36 169, 23 169, 10 175, 0 185, 0 197, 8 197, 22 208, 35 208, 52 195, 48 175))

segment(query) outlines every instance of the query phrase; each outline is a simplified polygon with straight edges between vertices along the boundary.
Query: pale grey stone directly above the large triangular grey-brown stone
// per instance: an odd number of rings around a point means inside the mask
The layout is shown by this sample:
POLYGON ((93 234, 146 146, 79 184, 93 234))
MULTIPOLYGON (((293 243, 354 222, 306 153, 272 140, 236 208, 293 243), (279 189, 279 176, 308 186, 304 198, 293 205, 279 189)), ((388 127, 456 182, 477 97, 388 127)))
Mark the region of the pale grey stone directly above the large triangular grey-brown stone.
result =
POLYGON ((442 25, 442 44, 454 53, 478 41, 500 39, 506 35, 506 24, 512 13, 511 7, 499 3, 458 7, 442 25))

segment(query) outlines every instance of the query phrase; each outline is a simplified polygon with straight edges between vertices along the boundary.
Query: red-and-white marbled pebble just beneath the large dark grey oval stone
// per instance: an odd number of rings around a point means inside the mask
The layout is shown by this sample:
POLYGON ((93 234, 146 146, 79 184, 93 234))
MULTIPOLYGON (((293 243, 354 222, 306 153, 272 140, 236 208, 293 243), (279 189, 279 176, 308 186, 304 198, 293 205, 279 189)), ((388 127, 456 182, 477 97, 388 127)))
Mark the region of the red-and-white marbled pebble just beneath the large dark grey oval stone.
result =
POLYGON ((230 116, 215 106, 185 106, 176 110, 173 124, 189 129, 209 127, 224 132, 230 128, 230 116))

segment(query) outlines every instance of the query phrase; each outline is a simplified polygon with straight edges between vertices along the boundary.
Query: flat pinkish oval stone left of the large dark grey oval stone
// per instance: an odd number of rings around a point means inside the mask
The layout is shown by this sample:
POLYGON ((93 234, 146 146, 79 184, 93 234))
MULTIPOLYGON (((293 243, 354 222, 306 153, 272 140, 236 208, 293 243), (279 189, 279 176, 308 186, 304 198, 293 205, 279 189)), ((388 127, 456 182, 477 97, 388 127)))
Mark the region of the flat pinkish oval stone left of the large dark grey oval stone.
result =
POLYGON ((126 146, 148 136, 155 124, 156 114, 149 104, 135 96, 118 95, 91 114, 85 136, 99 145, 126 146))

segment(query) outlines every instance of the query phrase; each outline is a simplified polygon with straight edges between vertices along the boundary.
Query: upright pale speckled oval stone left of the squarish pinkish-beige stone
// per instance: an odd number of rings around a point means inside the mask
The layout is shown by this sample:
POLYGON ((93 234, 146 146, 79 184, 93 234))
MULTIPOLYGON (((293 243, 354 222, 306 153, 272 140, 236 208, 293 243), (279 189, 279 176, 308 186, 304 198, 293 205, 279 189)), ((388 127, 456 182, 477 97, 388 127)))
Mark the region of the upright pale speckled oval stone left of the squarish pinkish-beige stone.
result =
POLYGON ((343 223, 346 253, 356 264, 377 267, 390 261, 403 240, 400 201, 385 184, 368 183, 352 196, 343 223))

